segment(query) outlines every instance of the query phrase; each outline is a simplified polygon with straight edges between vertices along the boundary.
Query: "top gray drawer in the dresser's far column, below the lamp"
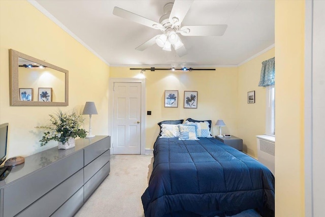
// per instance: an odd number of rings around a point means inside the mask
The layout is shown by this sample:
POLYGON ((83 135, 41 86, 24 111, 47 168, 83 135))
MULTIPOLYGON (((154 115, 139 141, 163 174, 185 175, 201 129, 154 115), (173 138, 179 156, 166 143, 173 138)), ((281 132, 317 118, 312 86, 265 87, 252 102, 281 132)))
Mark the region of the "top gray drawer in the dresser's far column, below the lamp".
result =
POLYGON ((111 147, 111 137, 105 137, 104 139, 93 143, 84 148, 85 161, 84 166, 88 165, 94 159, 99 157, 102 153, 107 151, 111 147))

